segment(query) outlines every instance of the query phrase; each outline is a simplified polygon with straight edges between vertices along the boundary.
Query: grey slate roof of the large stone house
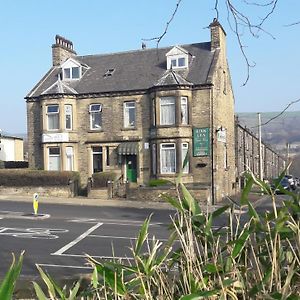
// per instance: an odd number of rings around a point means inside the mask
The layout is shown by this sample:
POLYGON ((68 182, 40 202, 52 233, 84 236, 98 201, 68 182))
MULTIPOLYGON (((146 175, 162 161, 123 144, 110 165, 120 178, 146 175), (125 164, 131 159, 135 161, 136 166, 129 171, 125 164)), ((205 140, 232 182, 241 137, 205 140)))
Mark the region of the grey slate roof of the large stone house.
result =
POLYGON ((173 47, 141 49, 103 55, 72 57, 83 66, 80 80, 60 81, 60 67, 52 67, 26 98, 52 94, 93 94, 147 90, 164 85, 209 83, 214 51, 210 42, 181 45, 189 53, 187 70, 167 70, 166 53, 173 47), (115 69, 105 77, 108 69, 115 69))

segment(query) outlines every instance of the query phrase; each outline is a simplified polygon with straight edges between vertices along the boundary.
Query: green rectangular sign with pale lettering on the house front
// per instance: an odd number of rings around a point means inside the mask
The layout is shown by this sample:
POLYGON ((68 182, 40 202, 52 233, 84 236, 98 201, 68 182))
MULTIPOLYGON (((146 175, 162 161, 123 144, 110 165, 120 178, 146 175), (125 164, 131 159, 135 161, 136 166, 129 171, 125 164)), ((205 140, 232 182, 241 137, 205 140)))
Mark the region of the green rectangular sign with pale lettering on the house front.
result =
POLYGON ((209 156, 210 155, 210 138, 209 128, 193 129, 193 156, 209 156))

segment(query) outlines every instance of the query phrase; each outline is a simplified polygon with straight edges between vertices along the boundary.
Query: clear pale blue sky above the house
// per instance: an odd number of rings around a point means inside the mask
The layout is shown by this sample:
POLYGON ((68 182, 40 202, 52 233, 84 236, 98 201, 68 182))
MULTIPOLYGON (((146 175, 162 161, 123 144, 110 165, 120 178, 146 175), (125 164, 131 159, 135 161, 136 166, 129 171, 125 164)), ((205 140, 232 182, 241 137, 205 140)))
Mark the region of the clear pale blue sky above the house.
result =
MULTIPOLYGON (((136 50, 142 39, 160 36, 178 0, 2 0, 0 6, 0 128, 26 133, 24 97, 51 68, 56 34, 71 40, 78 55, 136 50)), ((225 0, 219 0, 219 21, 227 33, 227 56, 236 112, 282 111, 300 98, 299 0, 279 0, 276 10, 253 37, 241 38, 247 67, 227 20, 225 0)), ((242 0, 234 1, 237 5, 242 0)), ((269 0, 257 0, 263 4, 269 0)), ((159 47, 210 41, 207 26, 216 16, 215 0, 181 0, 159 47)), ((263 6, 240 7, 253 23, 263 6)), ((155 41, 146 42, 156 47, 155 41)), ((300 102, 290 111, 300 111, 300 102)))

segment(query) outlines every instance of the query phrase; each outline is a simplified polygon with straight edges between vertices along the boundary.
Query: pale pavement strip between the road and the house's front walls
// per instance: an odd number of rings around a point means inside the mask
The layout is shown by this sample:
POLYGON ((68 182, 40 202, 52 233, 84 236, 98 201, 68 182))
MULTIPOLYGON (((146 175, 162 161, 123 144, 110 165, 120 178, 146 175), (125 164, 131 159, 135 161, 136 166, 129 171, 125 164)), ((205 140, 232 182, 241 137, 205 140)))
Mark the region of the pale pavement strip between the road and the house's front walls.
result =
MULTIPOLYGON (((258 203, 263 196, 259 193, 250 193, 249 200, 252 203, 258 203)), ((216 205, 201 205, 203 210, 215 210, 218 207, 221 207, 226 204, 237 204, 239 203, 240 194, 232 196, 230 198, 224 199, 222 202, 217 203, 216 205)), ((20 195, 20 194, 0 194, 0 201, 18 201, 18 202, 33 202, 33 195, 30 196, 20 195)), ((83 206, 112 206, 112 207, 133 207, 133 208, 153 208, 153 209, 173 209, 173 207, 163 201, 155 202, 146 202, 146 201, 137 201, 137 200, 128 200, 126 198, 114 198, 114 199, 100 199, 100 198, 89 198, 89 197, 55 197, 55 196, 40 196, 38 199, 40 204, 43 203, 55 203, 62 205, 83 205, 83 206)))

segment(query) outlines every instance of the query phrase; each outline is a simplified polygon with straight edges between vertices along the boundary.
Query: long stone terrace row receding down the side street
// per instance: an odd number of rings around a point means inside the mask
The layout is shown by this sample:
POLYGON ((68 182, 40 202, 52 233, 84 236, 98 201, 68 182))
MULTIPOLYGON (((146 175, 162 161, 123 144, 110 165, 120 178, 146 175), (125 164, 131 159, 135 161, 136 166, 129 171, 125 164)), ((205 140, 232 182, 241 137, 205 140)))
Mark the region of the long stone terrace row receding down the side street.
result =
POLYGON ((251 171, 256 177, 271 180, 285 168, 285 158, 269 145, 261 143, 261 170, 259 159, 259 139, 251 130, 236 121, 236 168, 239 187, 244 186, 243 173, 251 171), (262 174, 260 174, 260 172, 262 174))

